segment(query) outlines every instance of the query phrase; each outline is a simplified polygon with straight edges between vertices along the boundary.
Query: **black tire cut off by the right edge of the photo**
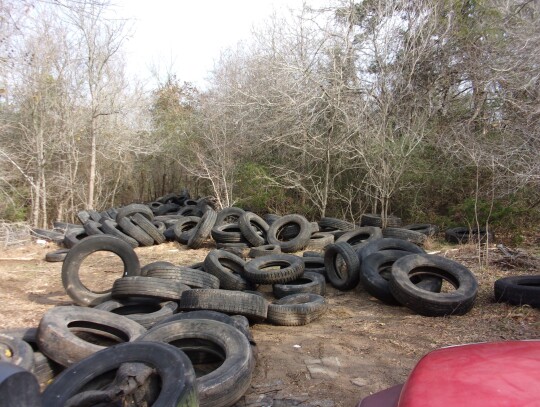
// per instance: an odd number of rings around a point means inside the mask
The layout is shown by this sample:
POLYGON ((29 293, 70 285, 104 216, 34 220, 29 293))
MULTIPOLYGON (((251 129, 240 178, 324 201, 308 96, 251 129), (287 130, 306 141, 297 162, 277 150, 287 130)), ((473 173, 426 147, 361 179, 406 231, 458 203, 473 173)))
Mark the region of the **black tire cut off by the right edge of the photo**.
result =
POLYGON ((540 276, 512 276, 495 281, 495 300, 540 308, 540 276))

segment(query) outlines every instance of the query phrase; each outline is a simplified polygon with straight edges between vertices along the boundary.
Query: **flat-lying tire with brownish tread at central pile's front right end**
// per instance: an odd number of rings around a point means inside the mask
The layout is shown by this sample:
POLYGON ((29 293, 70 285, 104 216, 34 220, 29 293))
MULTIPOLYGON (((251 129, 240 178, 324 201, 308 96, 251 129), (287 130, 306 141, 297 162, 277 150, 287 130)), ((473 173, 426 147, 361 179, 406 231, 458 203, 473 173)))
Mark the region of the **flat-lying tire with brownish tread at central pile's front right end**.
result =
POLYGON ((324 297, 320 295, 293 294, 268 306, 268 321, 284 326, 307 325, 320 318, 326 309, 324 297))

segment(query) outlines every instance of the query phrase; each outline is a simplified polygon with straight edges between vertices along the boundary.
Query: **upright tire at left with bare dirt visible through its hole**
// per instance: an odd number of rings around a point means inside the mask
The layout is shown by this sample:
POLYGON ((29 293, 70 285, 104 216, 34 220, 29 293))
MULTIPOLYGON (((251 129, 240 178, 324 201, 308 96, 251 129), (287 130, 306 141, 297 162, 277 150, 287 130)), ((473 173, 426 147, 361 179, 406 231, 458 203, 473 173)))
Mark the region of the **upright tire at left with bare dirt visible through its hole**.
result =
POLYGON ((124 263, 124 276, 137 276, 141 273, 139 259, 127 243, 113 236, 87 237, 70 249, 62 265, 62 284, 69 297, 78 305, 95 306, 112 298, 110 290, 93 292, 84 286, 79 277, 84 259, 97 251, 108 251, 120 257, 124 263))

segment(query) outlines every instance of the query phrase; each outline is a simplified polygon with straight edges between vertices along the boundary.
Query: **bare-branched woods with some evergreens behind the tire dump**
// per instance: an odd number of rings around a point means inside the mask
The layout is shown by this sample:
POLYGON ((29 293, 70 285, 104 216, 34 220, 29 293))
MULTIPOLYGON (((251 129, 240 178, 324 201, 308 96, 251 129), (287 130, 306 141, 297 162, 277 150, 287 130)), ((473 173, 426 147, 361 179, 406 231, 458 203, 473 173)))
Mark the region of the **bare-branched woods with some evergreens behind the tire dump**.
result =
MULTIPOLYGON (((125 73, 101 1, 0 3, 0 219, 46 227, 183 187, 220 207, 528 225, 540 4, 329 1, 224 50, 206 89, 125 73)), ((189 60, 185 60, 189 63, 189 60)))

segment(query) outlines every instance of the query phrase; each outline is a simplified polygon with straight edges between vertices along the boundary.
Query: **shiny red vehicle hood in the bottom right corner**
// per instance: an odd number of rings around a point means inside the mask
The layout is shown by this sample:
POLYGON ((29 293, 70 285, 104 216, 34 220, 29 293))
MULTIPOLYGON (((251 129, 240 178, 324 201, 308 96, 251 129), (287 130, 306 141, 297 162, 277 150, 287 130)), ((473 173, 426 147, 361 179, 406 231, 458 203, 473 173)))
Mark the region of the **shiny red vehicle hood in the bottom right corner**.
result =
POLYGON ((424 356, 399 407, 540 406, 540 341, 456 346, 424 356))

